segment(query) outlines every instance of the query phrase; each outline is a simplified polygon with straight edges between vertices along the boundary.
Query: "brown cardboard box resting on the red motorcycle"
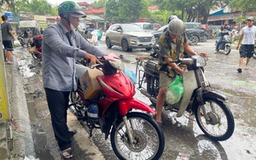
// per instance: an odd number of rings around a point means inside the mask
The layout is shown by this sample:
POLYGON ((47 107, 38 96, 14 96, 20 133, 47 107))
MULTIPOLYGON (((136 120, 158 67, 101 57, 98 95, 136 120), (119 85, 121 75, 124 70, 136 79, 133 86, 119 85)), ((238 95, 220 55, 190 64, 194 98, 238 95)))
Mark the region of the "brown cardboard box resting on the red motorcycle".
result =
POLYGON ((88 69, 84 72, 84 75, 80 77, 79 81, 85 99, 91 99, 101 92, 102 88, 96 80, 96 77, 100 75, 103 75, 102 71, 97 69, 88 69))

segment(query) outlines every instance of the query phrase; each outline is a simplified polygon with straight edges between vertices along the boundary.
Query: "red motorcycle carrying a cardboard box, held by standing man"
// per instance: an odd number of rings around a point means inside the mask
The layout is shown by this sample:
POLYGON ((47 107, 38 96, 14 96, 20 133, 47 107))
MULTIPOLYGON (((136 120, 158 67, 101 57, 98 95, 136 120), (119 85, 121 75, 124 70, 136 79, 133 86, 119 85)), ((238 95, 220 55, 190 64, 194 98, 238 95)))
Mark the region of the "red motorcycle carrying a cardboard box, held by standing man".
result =
POLYGON ((152 118, 155 111, 133 98, 135 85, 115 54, 102 56, 102 65, 76 65, 78 89, 70 95, 70 111, 92 129, 101 129, 119 159, 159 159, 165 138, 152 118))

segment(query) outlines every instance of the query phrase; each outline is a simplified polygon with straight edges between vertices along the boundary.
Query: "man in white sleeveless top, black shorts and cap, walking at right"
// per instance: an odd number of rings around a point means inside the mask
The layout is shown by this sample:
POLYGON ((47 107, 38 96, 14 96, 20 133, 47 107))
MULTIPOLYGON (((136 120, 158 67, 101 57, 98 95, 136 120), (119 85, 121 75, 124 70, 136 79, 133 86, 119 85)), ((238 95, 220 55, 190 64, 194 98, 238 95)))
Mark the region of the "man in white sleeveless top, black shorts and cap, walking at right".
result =
POLYGON ((247 58, 245 70, 248 69, 249 61, 251 60, 254 54, 254 41, 256 39, 256 26, 253 26, 253 17, 247 18, 247 26, 241 29, 241 37, 237 43, 236 49, 239 49, 240 59, 239 59, 239 67, 237 69, 238 73, 241 73, 242 62, 244 58, 247 58), (241 43, 242 40, 242 43, 241 43), (241 47, 239 48, 239 45, 241 47))

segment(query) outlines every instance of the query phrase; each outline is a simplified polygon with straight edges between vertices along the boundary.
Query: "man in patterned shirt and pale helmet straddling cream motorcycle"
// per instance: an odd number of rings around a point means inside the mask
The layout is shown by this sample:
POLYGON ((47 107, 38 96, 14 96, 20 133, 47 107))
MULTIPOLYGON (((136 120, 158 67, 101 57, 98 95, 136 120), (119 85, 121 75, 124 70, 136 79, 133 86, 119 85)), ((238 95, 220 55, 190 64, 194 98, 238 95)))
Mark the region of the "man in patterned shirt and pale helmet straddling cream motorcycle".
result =
MULTIPOLYGON (((196 55, 195 51, 190 48, 188 39, 185 35, 186 26, 183 20, 174 18, 170 21, 167 31, 163 32, 159 40, 160 56, 160 90, 156 100, 156 122, 161 125, 161 112, 165 104, 166 92, 172 79, 177 74, 183 75, 184 71, 176 63, 170 63, 172 60, 181 58, 183 52, 190 55, 196 55)), ((200 55, 207 57, 207 54, 200 55)))

